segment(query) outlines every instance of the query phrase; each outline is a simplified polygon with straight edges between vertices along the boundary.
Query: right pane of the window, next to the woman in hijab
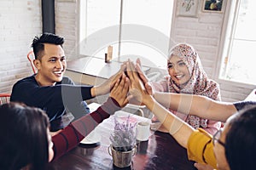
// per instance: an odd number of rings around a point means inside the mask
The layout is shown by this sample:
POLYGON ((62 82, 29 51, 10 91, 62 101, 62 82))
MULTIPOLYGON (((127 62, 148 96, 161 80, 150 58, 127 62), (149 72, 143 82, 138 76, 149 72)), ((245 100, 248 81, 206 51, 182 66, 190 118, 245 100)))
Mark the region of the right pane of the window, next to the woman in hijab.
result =
POLYGON ((121 42, 120 55, 142 56, 154 64, 150 66, 166 68, 165 56, 169 47, 172 5, 173 1, 170 0, 124 1, 121 40, 125 37, 127 41, 126 36, 130 33, 127 31, 131 31, 125 25, 132 25, 134 30, 130 42, 121 42), (158 43, 161 47, 155 47, 158 43))

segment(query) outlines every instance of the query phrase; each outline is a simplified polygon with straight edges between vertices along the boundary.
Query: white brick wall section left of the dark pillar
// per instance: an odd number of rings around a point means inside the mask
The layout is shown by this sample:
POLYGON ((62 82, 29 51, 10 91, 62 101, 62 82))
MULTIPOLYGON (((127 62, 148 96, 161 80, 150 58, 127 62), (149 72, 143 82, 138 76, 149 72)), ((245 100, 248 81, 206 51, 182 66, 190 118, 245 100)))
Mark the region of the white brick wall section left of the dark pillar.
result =
POLYGON ((0 93, 32 74, 26 59, 32 38, 42 30, 41 0, 0 1, 0 93))

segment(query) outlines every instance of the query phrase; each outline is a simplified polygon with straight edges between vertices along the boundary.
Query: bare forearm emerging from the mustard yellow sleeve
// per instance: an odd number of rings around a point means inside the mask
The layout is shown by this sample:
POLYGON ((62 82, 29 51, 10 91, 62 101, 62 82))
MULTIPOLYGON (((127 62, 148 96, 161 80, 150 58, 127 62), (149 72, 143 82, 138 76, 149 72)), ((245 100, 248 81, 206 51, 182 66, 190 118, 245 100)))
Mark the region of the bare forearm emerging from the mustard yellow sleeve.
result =
POLYGON ((148 109, 157 116, 158 120, 164 127, 166 127, 174 139, 176 139, 184 148, 187 148, 189 136, 195 131, 194 128, 173 115, 170 111, 167 111, 166 108, 156 102, 153 98, 148 99, 148 102, 145 104, 148 109))

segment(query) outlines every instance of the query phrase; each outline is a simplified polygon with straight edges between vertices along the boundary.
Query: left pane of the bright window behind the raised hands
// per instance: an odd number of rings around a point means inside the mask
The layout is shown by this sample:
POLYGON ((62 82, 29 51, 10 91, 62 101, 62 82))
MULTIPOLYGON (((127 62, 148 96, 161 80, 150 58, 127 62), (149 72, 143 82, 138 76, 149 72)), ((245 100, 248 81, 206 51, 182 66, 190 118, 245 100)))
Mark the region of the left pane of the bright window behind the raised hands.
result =
POLYGON ((80 1, 80 54, 104 58, 108 45, 118 41, 119 18, 119 0, 80 1))

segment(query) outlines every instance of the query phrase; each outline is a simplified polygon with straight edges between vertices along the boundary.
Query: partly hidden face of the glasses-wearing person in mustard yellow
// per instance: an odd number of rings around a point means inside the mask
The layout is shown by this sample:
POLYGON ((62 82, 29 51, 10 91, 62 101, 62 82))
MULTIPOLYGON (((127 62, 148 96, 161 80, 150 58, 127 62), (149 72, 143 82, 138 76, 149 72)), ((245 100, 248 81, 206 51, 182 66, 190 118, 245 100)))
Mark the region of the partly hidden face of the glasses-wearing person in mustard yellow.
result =
POLYGON ((225 138, 226 138, 226 133, 228 132, 229 127, 228 124, 224 127, 223 131, 220 134, 220 137, 218 140, 215 140, 214 143, 214 155, 216 157, 217 161, 217 167, 219 170, 230 170, 229 163, 226 159, 225 156, 225 148, 223 144, 220 144, 221 142, 225 144, 225 138))

